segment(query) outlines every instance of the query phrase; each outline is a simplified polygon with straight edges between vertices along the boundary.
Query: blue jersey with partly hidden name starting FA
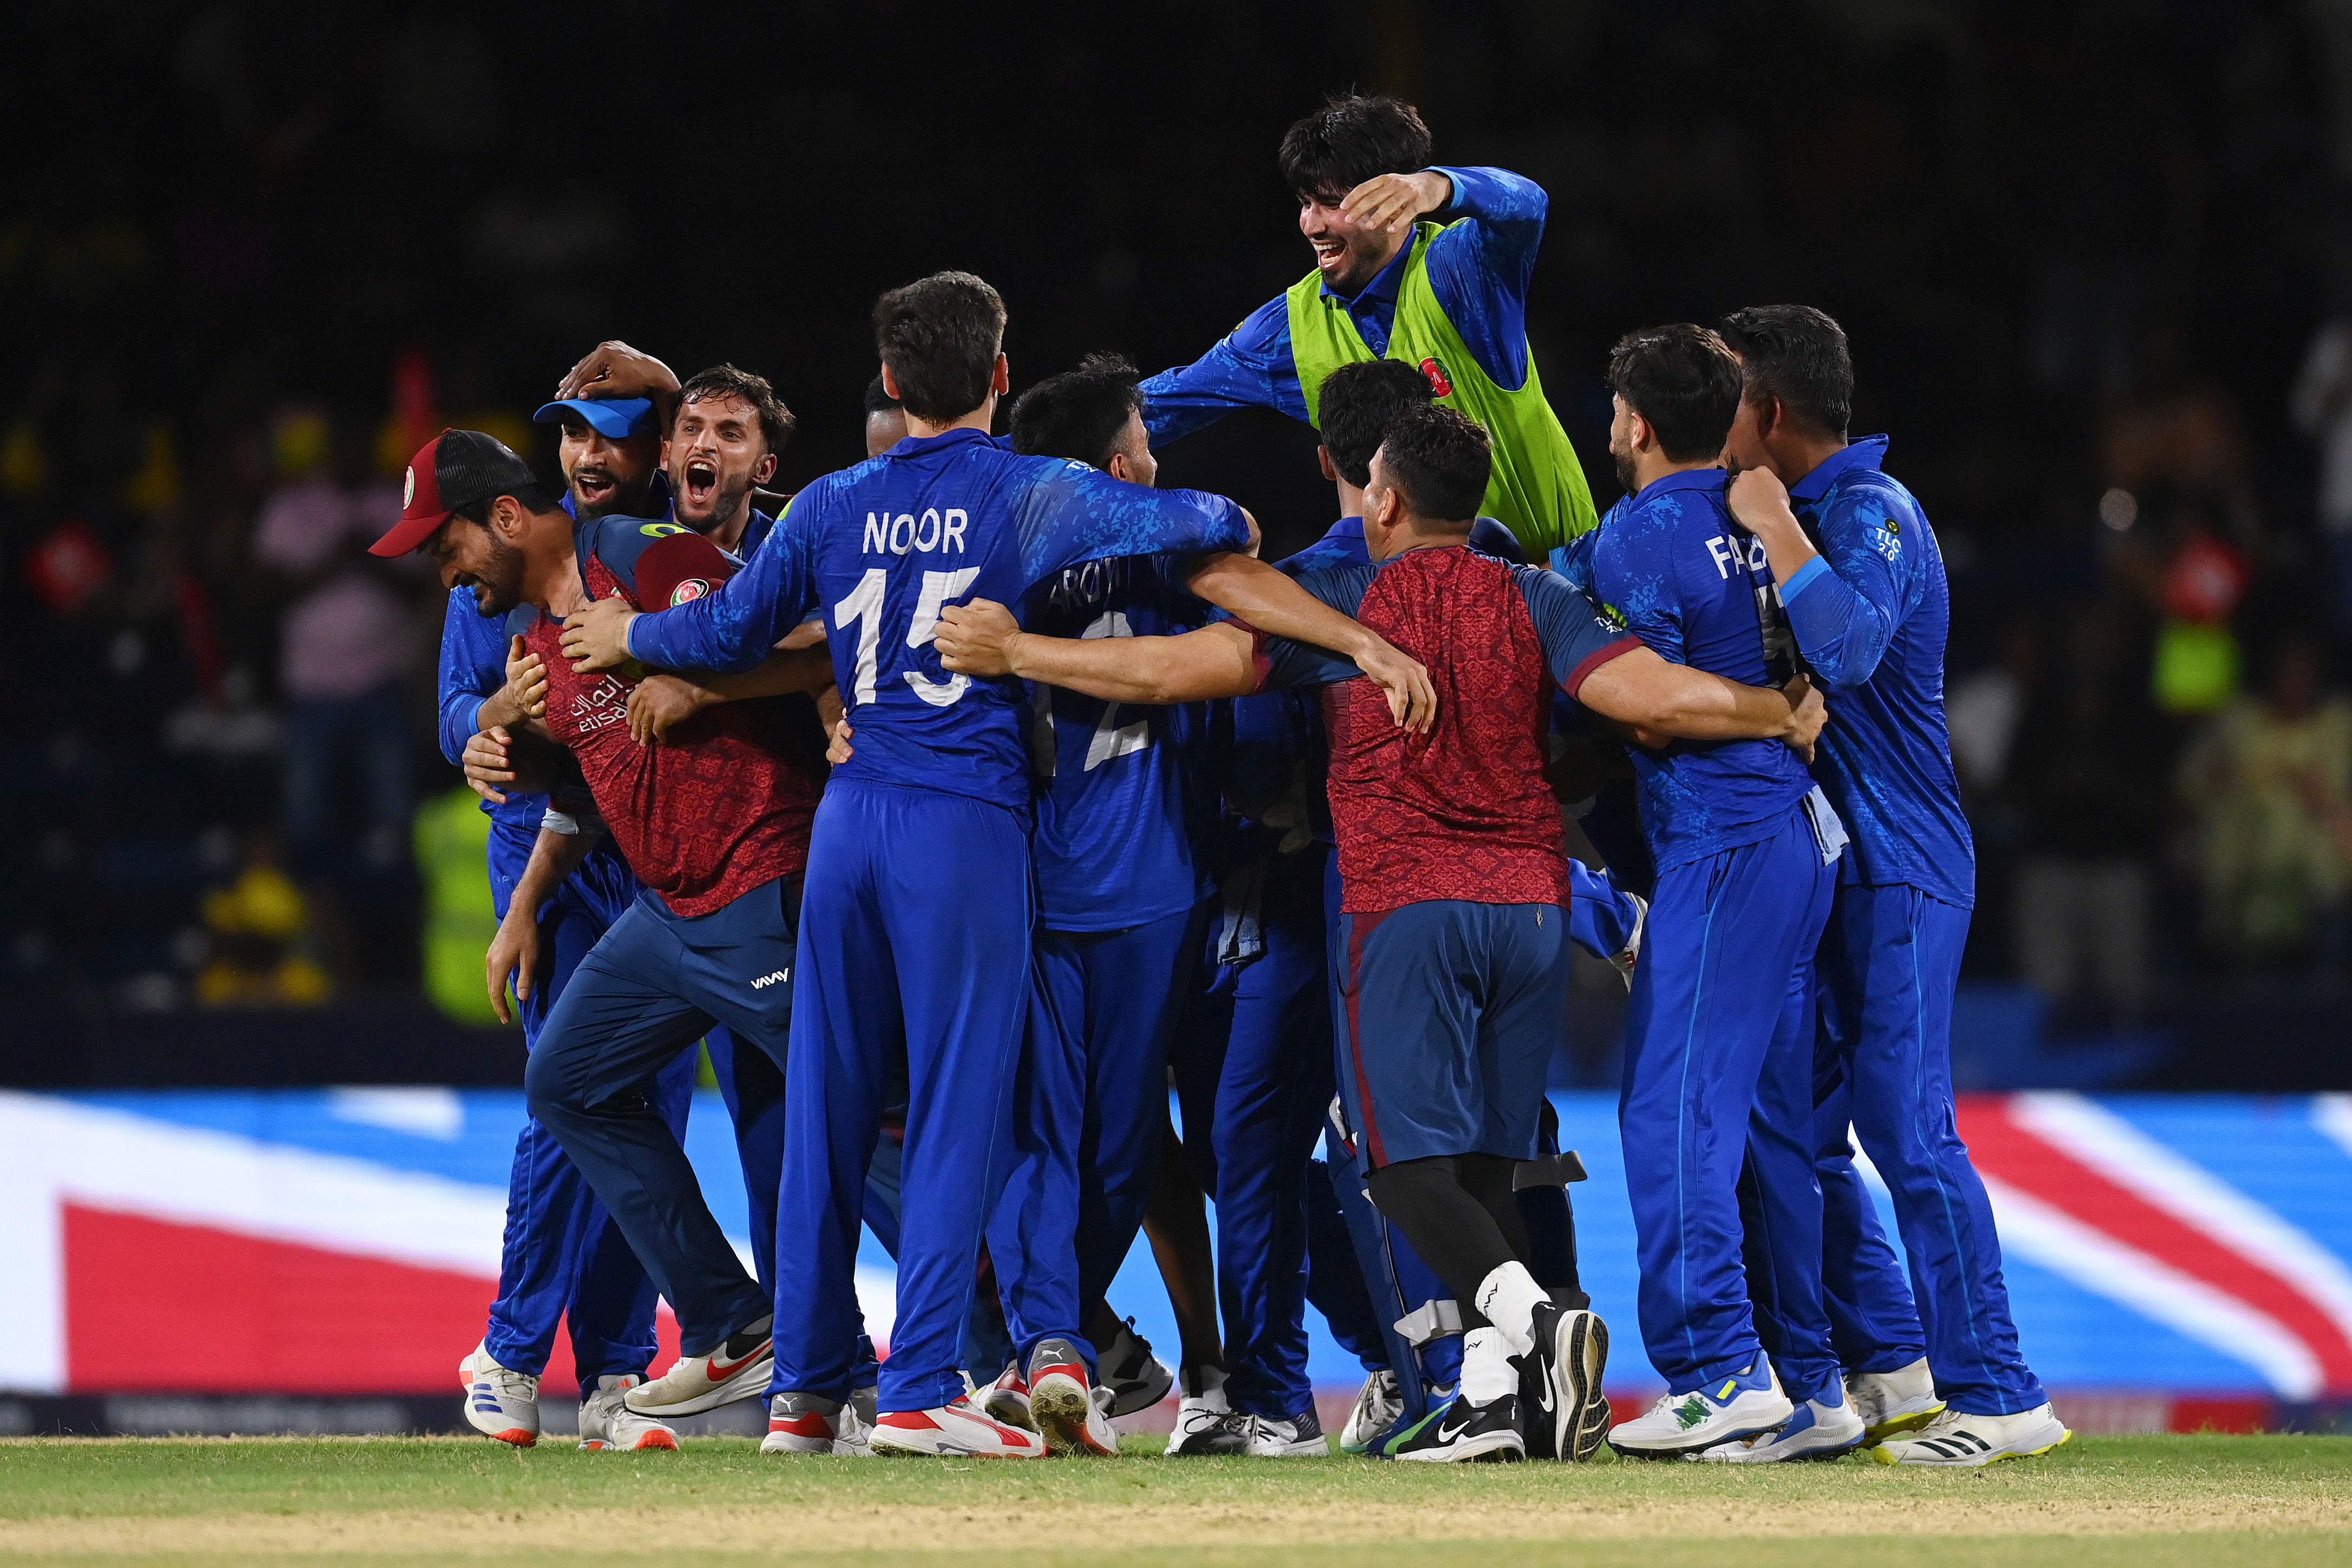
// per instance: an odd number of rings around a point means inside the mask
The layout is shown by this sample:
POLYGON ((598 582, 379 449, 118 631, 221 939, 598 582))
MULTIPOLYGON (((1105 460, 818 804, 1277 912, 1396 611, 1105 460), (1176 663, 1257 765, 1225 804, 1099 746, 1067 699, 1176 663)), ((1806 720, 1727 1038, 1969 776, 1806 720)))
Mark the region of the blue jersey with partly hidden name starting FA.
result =
MULTIPOLYGON (((1686 468, 1618 501, 1592 531, 1590 592, 1661 658, 1745 686, 1792 675, 1764 545, 1731 522, 1731 475, 1686 468)), ((1813 788, 1778 741, 1675 741, 1632 752, 1642 835, 1661 872, 1757 844, 1813 788)))

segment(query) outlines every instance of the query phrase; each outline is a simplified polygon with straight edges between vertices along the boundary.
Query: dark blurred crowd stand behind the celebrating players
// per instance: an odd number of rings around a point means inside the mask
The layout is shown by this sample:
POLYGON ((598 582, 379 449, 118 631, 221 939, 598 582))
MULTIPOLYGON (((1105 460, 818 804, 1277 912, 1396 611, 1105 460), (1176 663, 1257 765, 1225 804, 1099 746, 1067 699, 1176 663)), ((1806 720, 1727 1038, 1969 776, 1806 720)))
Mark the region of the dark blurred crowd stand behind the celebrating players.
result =
MULTIPOLYGON (((1529 331, 1606 505, 1628 327, 1806 301, 1955 583, 1969 1086, 2305 1088, 2352 867, 2352 5, 21 2, 0 52, 0 1081, 513 1081, 442 595, 362 545, 595 341, 861 456, 941 266, 1016 388, 1202 353, 1310 254, 1282 127, 1421 103, 1552 197, 1529 331), (435 1004, 437 999, 437 1004, 435 1004)), ((1167 451, 1277 548, 1312 435, 1167 451)), ((1609 1079, 1597 971, 1562 1077, 1609 1079)))

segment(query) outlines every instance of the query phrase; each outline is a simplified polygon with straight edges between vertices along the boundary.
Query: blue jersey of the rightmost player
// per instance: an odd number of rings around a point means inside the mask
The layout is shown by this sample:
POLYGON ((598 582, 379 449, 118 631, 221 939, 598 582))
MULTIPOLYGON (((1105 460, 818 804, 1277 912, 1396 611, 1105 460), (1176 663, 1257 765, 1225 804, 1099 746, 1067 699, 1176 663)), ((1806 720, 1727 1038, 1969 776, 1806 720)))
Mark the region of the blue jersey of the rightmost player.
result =
POLYGON ((1976 844, 1943 722, 1952 590, 1936 529, 1884 461, 1886 437, 1870 435, 1790 491, 1820 555, 1780 602, 1797 649, 1830 686, 1813 771, 1853 837, 1839 879, 1907 884, 1966 910, 1976 844))

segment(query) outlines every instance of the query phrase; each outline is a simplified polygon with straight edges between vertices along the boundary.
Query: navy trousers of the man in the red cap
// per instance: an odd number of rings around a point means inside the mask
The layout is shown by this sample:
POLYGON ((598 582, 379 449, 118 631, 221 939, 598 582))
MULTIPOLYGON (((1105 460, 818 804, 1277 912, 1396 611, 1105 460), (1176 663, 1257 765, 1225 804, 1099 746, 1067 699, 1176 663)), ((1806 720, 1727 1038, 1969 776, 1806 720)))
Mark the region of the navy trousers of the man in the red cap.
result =
MULTIPOLYGON (((604 1199, 670 1300, 689 1356, 767 1316, 769 1293, 743 1274, 644 1084, 715 1023, 736 1037, 739 1091, 748 1048, 783 1065, 797 914, 800 877, 764 882, 694 919, 642 893, 581 959, 522 1079, 532 1114, 604 1199)), ((746 1105, 753 1119, 767 1110, 746 1105)))

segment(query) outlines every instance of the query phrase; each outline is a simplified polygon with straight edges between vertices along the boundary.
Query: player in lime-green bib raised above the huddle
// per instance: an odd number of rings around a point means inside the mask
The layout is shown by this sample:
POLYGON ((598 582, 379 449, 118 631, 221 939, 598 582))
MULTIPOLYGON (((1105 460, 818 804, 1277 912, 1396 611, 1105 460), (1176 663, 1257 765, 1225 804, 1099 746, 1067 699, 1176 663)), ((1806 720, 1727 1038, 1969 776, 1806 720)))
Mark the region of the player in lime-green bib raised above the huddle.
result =
POLYGON ((1143 383, 1152 444, 1244 407, 1319 428, 1334 369, 1399 360, 1494 433, 1479 510, 1526 559, 1588 531, 1585 470, 1526 346, 1543 188, 1508 169, 1432 167, 1421 113, 1388 96, 1329 99, 1291 125, 1277 162, 1315 270, 1197 362, 1143 383))

